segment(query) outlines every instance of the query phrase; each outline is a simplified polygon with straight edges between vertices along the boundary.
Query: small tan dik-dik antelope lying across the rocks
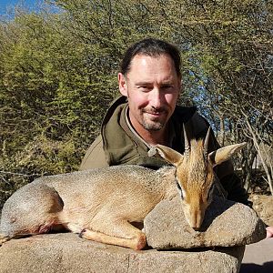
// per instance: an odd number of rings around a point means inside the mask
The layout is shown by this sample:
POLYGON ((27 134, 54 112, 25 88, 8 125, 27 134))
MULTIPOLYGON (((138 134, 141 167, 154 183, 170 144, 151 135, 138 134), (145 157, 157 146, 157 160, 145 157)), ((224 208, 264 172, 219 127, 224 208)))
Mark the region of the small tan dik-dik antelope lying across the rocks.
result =
POLYGON ((131 223, 143 222, 162 199, 177 192, 189 226, 199 228, 216 180, 213 167, 245 146, 208 154, 208 135, 190 143, 185 135, 184 155, 161 145, 152 149, 174 167, 116 166, 36 179, 5 202, 0 245, 10 238, 66 227, 82 238, 142 249, 146 235, 131 223))

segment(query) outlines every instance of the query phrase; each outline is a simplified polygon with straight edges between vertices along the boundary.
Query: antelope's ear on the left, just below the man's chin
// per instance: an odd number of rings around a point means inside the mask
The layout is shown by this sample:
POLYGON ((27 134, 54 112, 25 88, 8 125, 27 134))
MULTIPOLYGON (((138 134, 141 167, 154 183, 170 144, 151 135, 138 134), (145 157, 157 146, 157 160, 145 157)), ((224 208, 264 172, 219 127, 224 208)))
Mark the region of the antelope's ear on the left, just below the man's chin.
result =
POLYGON ((177 167, 179 162, 183 159, 183 156, 174 149, 159 144, 148 151, 149 157, 153 157, 156 154, 163 157, 168 163, 175 167, 177 167))

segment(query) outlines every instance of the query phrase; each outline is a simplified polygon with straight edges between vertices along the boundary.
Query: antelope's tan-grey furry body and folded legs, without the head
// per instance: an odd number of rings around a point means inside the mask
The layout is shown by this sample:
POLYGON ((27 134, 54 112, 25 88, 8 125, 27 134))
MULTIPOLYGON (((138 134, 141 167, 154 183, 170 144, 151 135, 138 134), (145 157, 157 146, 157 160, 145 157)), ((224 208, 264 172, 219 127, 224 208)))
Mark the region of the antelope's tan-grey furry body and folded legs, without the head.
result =
POLYGON ((143 222, 176 194, 175 167, 116 166, 38 178, 5 202, 0 244, 61 225, 82 238, 141 249, 146 236, 130 223, 143 222))

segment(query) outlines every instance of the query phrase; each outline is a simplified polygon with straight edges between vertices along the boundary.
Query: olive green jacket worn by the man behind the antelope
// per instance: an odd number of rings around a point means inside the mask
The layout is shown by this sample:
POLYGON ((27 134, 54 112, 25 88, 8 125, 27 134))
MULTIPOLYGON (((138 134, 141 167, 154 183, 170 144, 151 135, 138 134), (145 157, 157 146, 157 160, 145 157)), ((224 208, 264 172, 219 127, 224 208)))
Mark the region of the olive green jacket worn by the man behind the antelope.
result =
MULTIPOLYGON (((120 96, 109 107, 101 126, 101 134, 88 148, 80 170, 109 167, 115 165, 136 164, 157 169, 167 163, 158 157, 148 157, 149 146, 137 136, 134 129, 126 121, 127 101, 120 96)), ((197 114, 196 107, 177 106, 169 120, 170 147, 184 152, 183 124, 187 127, 187 135, 195 138, 207 135, 207 120, 197 114)), ((219 147, 216 137, 211 133, 208 152, 219 147)), ((217 177, 227 191, 227 198, 248 205, 248 196, 235 175, 230 161, 214 168, 217 177)))

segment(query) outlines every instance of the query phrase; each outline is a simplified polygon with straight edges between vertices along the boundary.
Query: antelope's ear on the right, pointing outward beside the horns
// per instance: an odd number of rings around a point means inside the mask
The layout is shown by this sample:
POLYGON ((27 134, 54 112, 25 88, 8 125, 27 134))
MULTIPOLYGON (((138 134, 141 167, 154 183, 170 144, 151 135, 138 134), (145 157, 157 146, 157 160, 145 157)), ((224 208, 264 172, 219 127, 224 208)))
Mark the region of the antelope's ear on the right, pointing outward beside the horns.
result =
POLYGON ((217 166, 222 162, 227 161, 227 159, 233 155, 237 154, 246 145, 247 142, 243 142, 218 148, 216 151, 209 153, 208 158, 212 162, 213 166, 217 166))

